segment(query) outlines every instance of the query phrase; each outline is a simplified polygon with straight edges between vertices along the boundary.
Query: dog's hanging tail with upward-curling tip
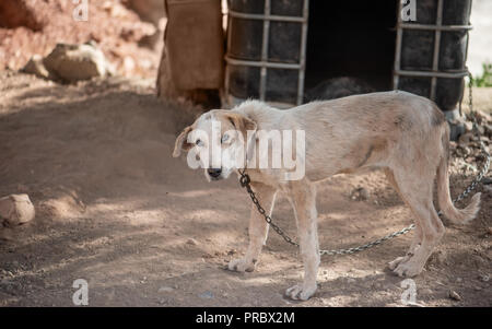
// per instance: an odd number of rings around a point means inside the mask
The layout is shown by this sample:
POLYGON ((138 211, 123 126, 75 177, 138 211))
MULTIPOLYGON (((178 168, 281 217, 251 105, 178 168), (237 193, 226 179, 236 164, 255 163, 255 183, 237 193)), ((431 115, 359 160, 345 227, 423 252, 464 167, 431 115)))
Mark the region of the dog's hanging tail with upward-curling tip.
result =
POLYGON ((457 209, 453 204, 449 193, 449 127, 447 122, 443 125, 445 128, 442 134, 442 143, 444 148, 444 155, 441 158, 437 167, 437 198, 441 211, 455 224, 466 224, 473 220, 480 210, 480 193, 476 193, 471 198, 470 204, 465 209, 457 209))

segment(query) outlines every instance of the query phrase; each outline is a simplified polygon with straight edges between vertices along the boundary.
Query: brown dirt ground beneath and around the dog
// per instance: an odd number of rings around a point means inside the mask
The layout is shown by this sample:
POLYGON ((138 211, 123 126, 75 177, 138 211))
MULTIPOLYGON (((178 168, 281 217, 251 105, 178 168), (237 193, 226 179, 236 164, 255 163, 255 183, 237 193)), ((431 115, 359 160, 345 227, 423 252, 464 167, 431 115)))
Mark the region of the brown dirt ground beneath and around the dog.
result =
MULTIPOLYGON (((59 85, 0 72, 0 196, 26 192, 36 208, 33 222, 0 228, 0 306, 73 306, 77 279, 89 282, 90 306, 402 306, 403 279, 386 263, 405 254, 413 233, 324 257, 318 292, 304 303, 283 297, 303 270, 297 250, 273 232, 256 272, 225 271, 246 249, 248 196, 235 177, 209 184, 185 157, 171 156, 198 110, 156 99, 152 85, 118 78, 59 85)), ((491 90, 477 93, 484 101, 476 106, 490 110, 491 90)), ((470 179, 455 171, 453 196, 470 179)), ((447 224, 414 279, 417 303, 492 306, 491 205, 483 190, 476 221, 447 224)), ((320 246, 330 249, 412 221, 377 172, 321 184, 318 212, 320 246), (352 200, 358 187, 366 200, 352 200)), ((284 199, 273 216, 295 236, 284 199)))

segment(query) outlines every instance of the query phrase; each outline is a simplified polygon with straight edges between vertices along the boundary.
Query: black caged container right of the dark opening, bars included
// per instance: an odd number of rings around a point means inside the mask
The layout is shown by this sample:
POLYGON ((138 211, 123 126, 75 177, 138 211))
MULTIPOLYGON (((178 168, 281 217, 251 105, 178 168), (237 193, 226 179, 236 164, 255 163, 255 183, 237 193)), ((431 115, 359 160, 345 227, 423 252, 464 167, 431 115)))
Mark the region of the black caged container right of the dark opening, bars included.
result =
POLYGON ((394 87, 453 110, 467 75, 471 0, 419 0, 415 5, 417 21, 399 17, 394 87))

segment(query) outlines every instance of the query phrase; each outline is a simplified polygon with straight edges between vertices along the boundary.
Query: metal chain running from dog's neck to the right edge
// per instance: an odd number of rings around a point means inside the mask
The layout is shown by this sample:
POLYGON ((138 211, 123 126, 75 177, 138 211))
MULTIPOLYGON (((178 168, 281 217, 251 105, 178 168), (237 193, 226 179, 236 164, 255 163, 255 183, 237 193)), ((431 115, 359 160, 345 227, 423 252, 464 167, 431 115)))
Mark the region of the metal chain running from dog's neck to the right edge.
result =
MULTIPOLYGON (((468 197, 468 195, 477 187, 477 185, 482 180, 483 176, 485 176, 485 174, 489 172, 489 167, 490 167, 490 154, 485 149, 485 145, 483 144, 483 141, 481 140, 481 136, 480 136, 480 130, 478 128, 478 124, 477 124, 477 114, 473 111, 473 104, 472 104, 472 95, 471 95, 471 75, 470 75, 470 83, 469 83, 469 107, 470 107, 470 116, 471 119, 473 121, 473 130, 478 137, 478 141, 480 143, 480 150, 482 151, 482 154, 485 156, 485 164, 483 165, 483 168, 480 171, 479 175, 476 176, 476 178, 471 181, 471 184, 456 198, 453 200, 453 203, 456 203, 462 199, 465 199, 466 197, 468 197)), ((239 183, 241 186, 246 188, 246 191, 248 192, 249 197, 251 198, 253 204, 256 205, 256 208, 258 209, 258 212, 265 218, 265 221, 270 225, 270 227, 272 227, 286 243, 289 243, 292 246, 296 246, 298 247, 298 243, 296 243, 295 240, 293 240, 279 225, 277 225, 271 216, 267 213, 267 211, 261 207, 261 204, 258 201, 258 198, 256 197, 255 192, 251 189, 251 180, 249 178, 249 175, 246 174, 246 169, 238 169, 241 178, 239 178, 239 183)), ((440 210, 437 212, 437 215, 442 215, 442 211, 440 210)), ((370 242, 365 245, 361 245, 358 247, 352 247, 352 248, 347 248, 347 249, 331 249, 331 250, 319 250, 319 255, 324 256, 324 255, 351 255, 351 254, 355 254, 359 251, 363 251, 365 249, 372 248, 374 246, 380 245, 382 243, 393 239, 397 236, 403 235, 410 231, 412 231, 413 228, 415 228, 414 224, 411 224, 410 226, 403 227, 400 231, 394 232, 391 234, 385 235, 382 238, 378 238, 376 240, 370 242)))

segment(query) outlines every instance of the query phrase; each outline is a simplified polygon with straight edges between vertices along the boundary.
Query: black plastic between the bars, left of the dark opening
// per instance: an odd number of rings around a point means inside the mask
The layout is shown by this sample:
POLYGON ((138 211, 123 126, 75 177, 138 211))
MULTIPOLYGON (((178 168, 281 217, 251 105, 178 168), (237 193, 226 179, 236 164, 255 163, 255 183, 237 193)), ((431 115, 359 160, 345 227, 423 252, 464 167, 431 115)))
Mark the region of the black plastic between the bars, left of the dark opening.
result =
MULTIPOLYGON (((304 0, 270 0, 270 15, 303 17, 304 0)), ((297 64, 302 56, 302 23, 270 20, 268 47, 262 58, 263 22, 234 13, 265 15, 265 0, 230 0, 227 31, 227 93, 236 98, 261 98, 259 62, 297 64), (237 64, 234 60, 256 62, 237 64)), ((298 70, 267 68, 263 101, 297 103, 298 70)))

